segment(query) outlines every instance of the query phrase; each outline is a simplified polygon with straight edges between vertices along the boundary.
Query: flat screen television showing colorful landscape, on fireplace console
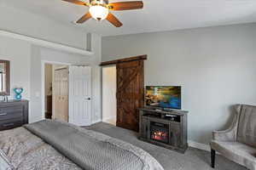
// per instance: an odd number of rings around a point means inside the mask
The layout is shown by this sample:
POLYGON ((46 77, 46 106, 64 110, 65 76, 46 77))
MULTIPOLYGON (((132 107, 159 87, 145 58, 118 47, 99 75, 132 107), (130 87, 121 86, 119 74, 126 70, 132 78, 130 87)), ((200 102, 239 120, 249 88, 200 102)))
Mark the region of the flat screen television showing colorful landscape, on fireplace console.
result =
POLYGON ((180 110, 181 86, 146 86, 146 106, 180 110))

